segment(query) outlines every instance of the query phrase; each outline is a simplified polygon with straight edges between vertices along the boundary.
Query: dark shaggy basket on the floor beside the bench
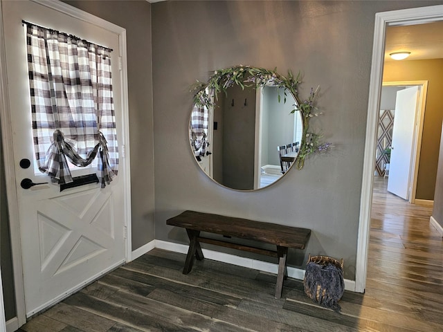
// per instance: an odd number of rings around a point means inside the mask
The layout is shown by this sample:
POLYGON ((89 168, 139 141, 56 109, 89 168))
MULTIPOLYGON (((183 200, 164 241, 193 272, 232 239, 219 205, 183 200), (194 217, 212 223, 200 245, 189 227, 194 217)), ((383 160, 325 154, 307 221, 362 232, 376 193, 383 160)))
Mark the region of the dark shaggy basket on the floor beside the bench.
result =
POLYGON ((343 259, 309 255, 303 284, 305 294, 314 302, 340 310, 338 301, 345 291, 343 259))

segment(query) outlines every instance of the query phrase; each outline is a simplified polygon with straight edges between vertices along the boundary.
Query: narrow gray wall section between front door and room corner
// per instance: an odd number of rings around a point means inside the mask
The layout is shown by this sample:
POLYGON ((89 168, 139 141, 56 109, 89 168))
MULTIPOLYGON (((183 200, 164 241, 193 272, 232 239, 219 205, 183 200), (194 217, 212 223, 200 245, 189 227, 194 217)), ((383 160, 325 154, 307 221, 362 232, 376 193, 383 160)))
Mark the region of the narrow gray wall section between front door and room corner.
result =
POLYGON ((151 5, 147 1, 64 2, 126 29, 135 250, 154 239, 151 5))

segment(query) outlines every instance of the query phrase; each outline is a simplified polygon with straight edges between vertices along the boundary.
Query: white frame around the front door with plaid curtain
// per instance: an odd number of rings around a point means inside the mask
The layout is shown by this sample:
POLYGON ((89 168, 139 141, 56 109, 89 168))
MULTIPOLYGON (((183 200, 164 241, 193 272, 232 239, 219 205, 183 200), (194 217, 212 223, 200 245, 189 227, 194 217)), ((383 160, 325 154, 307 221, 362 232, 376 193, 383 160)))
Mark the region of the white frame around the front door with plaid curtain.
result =
MULTIPOLYGON (((131 231, 131 188, 130 188, 130 158, 129 158, 129 102, 127 91, 127 48, 126 48, 126 30, 116 24, 113 24, 105 19, 91 15, 78 8, 70 6, 61 1, 44 1, 44 0, 30 0, 46 6, 53 10, 63 12, 66 15, 87 21, 88 23, 99 26, 106 30, 119 35, 119 50, 120 50, 120 81, 121 81, 121 104, 122 109, 122 128, 123 137, 120 138, 120 164, 124 165, 125 172, 119 172, 118 176, 122 178, 124 183, 124 214, 125 214, 125 260, 127 262, 132 260, 132 231, 131 231)), ((0 0, 1 2, 1 0, 0 0)), ((10 126, 10 108, 8 100, 8 80, 6 77, 6 56, 5 56, 5 41, 3 31, 3 11, 0 6, 0 92, 3 98, 0 102, 0 117, 1 117, 1 140, 3 142, 3 156, 6 174, 6 194, 8 196, 8 210, 10 222, 10 237, 12 250, 12 266, 14 270, 14 287, 15 287, 15 301, 16 314, 13 322, 9 322, 7 326, 8 331, 15 331, 19 326, 26 323, 26 310, 24 302, 24 280, 23 269, 21 261, 21 241, 19 235, 19 208, 17 203, 17 190, 15 187, 15 165, 12 146, 6 142, 12 142, 12 131, 10 126), (17 327, 16 327, 17 326, 17 327)), ((77 290, 75 290, 77 291, 77 290)), ((67 297, 68 295, 66 295, 67 297)), ((11 320, 12 321, 12 320, 11 320)))

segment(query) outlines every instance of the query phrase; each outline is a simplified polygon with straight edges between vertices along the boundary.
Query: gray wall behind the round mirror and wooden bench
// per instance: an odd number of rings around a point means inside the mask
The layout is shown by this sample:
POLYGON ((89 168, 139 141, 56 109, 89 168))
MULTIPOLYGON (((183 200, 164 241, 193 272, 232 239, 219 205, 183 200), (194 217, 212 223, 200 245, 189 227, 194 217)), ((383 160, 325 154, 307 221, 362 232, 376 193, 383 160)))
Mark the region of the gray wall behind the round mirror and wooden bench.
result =
POLYGON ((309 246, 290 252, 289 265, 304 268, 309 252, 326 254, 343 258, 345 278, 354 279, 374 15, 439 3, 153 3, 156 239, 187 244, 186 233, 165 221, 188 209, 307 227, 313 231, 309 246), (309 158, 301 171, 291 169, 284 181, 257 192, 211 181, 188 145, 189 88, 195 80, 205 82, 210 71, 237 64, 302 71, 302 98, 320 84, 324 115, 312 127, 323 128, 334 151, 309 158))

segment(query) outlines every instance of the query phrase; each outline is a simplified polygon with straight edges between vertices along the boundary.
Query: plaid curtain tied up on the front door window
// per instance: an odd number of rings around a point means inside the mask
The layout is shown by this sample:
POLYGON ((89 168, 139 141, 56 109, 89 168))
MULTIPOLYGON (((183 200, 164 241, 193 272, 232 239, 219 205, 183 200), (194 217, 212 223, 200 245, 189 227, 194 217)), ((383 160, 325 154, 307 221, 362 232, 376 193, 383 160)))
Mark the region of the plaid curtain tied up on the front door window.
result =
POLYGON ((37 165, 55 183, 73 182, 69 164, 98 158, 101 187, 118 173, 109 48, 26 24, 37 165))

